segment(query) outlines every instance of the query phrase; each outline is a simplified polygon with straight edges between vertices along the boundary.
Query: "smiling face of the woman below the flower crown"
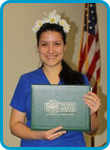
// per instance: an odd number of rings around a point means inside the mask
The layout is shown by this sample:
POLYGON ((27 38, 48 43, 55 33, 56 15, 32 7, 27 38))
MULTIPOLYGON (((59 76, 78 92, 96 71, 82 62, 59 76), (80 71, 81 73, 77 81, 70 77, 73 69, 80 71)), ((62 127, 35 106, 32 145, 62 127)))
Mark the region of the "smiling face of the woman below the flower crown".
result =
POLYGON ((61 65, 66 50, 62 35, 55 31, 43 32, 39 40, 39 56, 44 65, 53 67, 61 65))

